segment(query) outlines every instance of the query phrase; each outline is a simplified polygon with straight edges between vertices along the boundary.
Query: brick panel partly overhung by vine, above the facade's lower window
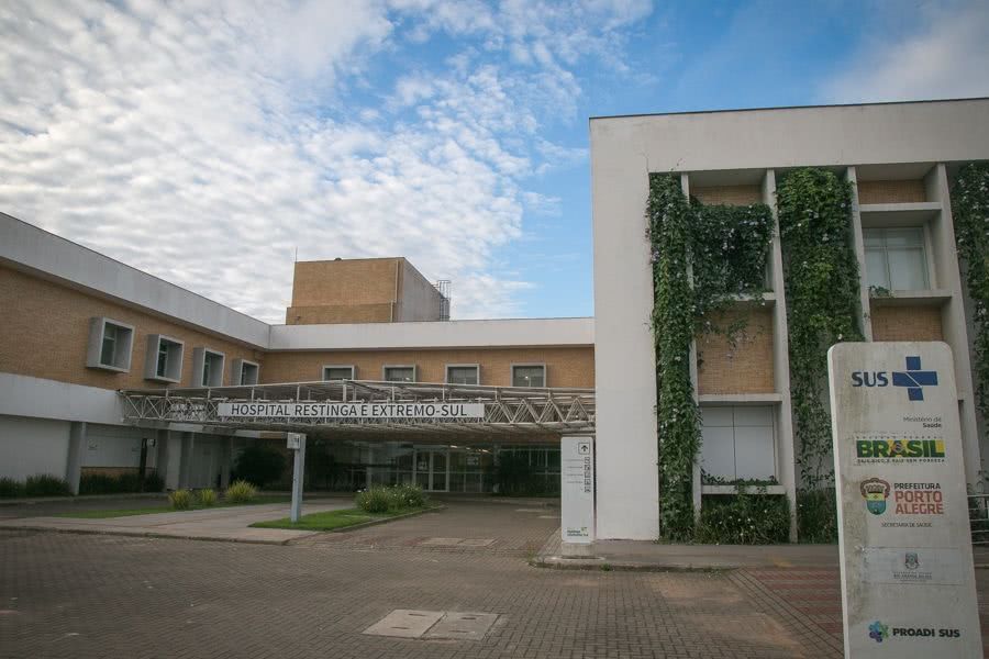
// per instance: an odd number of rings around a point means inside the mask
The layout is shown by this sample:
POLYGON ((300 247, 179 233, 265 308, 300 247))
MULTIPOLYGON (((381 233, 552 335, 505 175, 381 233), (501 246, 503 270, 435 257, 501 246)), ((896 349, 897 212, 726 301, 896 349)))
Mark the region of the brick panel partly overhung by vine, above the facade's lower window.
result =
POLYGON ((773 393, 773 311, 732 311, 715 323, 726 326, 745 317, 747 325, 733 348, 721 334, 704 334, 697 342, 700 365, 698 393, 773 393))

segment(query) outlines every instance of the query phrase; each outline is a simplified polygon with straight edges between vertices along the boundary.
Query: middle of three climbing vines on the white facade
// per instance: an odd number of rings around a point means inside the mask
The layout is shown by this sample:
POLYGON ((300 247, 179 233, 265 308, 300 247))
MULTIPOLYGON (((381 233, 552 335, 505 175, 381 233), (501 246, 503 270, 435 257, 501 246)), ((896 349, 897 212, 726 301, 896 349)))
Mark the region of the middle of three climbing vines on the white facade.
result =
POLYGON ((827 348, 860 340, 852 183, 824 169, 788 174, 777 189, 784 250, 797 463, 803 488, 833 484, 825 406, 827 348))

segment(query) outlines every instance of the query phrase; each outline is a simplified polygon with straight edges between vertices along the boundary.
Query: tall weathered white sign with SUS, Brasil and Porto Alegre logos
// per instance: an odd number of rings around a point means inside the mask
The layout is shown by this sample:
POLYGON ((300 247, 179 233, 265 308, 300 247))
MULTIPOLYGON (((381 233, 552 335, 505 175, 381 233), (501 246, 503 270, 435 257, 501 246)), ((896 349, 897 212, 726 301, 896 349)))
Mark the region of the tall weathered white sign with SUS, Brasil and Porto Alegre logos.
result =
POLYGON ((951 348, 843 343, 827 368, 845 657, 981 657, 951 348))

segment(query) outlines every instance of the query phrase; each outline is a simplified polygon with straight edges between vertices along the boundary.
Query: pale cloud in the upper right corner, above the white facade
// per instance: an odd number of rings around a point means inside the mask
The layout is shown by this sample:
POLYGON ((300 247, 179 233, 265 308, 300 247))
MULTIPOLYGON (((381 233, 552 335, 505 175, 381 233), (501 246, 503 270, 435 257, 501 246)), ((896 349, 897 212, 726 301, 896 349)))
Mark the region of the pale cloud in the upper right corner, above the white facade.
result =
MULTIPOLYGON (((899 10, 898 10, 899 11, 899 10)), ((829 102, 923 100, 989 94, 989 3, 940 5, 921 12, 922 29, 884 35, 829 80, 829 102)))

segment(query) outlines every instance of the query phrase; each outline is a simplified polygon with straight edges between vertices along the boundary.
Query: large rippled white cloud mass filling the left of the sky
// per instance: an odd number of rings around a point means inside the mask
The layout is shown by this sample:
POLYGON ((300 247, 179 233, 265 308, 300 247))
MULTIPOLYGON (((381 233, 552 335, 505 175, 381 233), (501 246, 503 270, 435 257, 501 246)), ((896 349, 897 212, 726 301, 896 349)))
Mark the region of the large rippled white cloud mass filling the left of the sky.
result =
POLYGON ((492 253, 526 211, 558 208, 526 179, 581 158, 538 131, 580 92, 559 63, 619 38, 575 22, 643 5, 605 4, 4 2, 0 210, 267 321, 297 248, 404 255, 454 280, 455 316, 513 314, 530 284, 492 272, 492 253), (436 30, 541 64, 465 46, 377 90, 385 103, 352 102, 369 62, 436 30))

